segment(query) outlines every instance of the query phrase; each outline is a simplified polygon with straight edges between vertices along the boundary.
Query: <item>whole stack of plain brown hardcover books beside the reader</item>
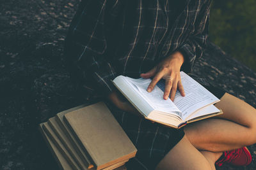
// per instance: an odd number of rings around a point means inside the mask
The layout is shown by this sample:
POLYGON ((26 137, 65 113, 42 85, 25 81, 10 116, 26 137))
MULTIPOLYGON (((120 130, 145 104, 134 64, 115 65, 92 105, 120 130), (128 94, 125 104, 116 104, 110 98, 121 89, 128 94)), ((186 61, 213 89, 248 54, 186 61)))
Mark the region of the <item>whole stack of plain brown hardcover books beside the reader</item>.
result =
POLYGON ((62 111, 39 127, 61 169, 115 169, 137 152, 102 102, 62 111))

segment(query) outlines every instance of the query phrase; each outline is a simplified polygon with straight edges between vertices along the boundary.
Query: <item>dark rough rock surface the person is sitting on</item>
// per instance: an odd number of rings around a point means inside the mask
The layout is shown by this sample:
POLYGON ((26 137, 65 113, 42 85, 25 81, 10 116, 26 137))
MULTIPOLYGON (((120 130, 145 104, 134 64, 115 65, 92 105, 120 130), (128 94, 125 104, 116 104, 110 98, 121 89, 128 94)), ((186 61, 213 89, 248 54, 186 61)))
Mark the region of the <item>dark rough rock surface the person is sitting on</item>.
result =
MULTIPOLYGON (((0 169, 57 169, 38 123, 88 97, 72 85, 61 56, 79 1, 2 0, 0 6, 0 169)), ((210 45, 194 73, 256 107, 256 73, 210 45)), ((249 146, 256 169, 256 145, 249 146)))

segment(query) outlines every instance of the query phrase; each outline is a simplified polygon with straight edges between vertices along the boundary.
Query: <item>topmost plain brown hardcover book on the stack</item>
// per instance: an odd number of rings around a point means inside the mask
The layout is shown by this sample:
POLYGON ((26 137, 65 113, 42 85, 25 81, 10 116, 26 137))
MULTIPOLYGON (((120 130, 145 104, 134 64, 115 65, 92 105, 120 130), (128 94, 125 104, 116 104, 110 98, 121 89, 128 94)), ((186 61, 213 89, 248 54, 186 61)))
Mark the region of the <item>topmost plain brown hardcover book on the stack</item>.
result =
POLYGON ((135 146, 106 104, 100 102, 71 111, 64 120, 97 169, 135 157, 135 146))

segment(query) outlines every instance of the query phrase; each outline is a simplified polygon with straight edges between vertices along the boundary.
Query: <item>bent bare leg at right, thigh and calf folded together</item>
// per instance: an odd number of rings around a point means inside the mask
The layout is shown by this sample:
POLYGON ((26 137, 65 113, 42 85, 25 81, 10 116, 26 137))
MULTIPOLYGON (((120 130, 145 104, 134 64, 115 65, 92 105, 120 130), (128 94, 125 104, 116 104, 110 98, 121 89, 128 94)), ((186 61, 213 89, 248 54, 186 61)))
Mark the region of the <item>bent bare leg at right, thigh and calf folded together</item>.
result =
POLYGON ((255 108, 228 93, 215 106, 223 111, 223 115, 184 128, 195 148, 223 152, 256 143, 255 108))

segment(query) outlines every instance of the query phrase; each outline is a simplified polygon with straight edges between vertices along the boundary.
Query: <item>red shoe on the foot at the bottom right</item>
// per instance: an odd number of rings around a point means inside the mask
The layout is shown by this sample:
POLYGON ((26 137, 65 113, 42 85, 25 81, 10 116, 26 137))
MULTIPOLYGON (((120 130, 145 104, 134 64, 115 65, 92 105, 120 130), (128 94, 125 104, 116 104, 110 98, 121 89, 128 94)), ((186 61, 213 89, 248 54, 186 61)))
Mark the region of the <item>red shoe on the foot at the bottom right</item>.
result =
POLYGON ((252 155, 245 146, 236 150, 226 151, 216 161, 217 166, 222 166, 223 163, 232 164, 233 166, 248 166, 252 162, 252 155))

